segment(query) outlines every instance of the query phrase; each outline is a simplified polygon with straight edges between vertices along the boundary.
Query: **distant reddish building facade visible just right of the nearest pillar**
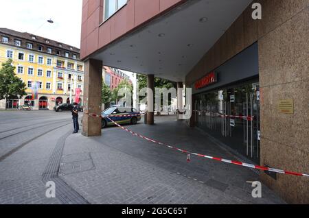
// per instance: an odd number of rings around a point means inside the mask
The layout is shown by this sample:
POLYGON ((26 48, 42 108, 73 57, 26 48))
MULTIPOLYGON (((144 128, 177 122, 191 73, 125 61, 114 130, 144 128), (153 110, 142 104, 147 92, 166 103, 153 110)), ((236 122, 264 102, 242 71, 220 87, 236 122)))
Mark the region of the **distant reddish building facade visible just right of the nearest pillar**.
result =
POLYGON ((110 86, 111 90, 117 88, 122 80, 128 80, 128 82, 132 84, 128 75, 119 69, 115 69, 109 66, 103 66, 103 80, 106 85, 110 86))

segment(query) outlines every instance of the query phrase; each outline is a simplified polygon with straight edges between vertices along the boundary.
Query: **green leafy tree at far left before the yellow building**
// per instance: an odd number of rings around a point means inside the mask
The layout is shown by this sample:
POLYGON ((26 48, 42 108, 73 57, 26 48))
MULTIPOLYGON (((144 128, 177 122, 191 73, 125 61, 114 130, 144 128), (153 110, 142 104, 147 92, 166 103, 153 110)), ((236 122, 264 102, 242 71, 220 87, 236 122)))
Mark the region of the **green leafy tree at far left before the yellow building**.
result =
POLYGON ((18 97, 21 99, 26 90, 26 84, 14 73, 15 66, 12 66, 12 59, 2 63, 0 69, 0 100, 18 97))

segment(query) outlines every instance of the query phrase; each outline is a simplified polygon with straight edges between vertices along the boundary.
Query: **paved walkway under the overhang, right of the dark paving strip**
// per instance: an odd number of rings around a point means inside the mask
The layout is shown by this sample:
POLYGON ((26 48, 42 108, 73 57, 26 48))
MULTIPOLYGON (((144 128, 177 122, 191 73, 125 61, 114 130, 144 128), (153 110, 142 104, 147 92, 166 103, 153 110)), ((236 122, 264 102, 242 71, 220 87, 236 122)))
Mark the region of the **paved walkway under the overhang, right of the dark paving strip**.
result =
MULTIPOLYGON (((127 127, 183 149, 233 158, 179 121, 127 127)), ((187 163, 184 154, 114 127, 102 130, 102 136, 69 136, 60 171, 93 204, 284 204, 266 186, 262 198, 251 197, 247 181, 257 181, 258 175, 250 169, 196 157, 187 163)))

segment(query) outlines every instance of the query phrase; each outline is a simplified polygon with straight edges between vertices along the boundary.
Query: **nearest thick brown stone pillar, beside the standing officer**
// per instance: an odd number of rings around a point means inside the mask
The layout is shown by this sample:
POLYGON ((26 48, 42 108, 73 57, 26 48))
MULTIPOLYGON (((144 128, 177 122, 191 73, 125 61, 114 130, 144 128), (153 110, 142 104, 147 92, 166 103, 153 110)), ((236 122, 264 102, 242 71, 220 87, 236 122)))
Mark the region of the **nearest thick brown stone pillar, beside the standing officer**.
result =
MULTIPOLYGON (((84 63, 84 111, 101 114, 102 61, 89 59, 84 63)), ((82 117, 84 136, 101 135, 101 119, 84 114, 82 117)))

